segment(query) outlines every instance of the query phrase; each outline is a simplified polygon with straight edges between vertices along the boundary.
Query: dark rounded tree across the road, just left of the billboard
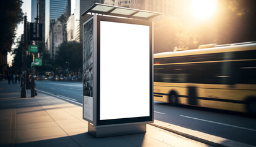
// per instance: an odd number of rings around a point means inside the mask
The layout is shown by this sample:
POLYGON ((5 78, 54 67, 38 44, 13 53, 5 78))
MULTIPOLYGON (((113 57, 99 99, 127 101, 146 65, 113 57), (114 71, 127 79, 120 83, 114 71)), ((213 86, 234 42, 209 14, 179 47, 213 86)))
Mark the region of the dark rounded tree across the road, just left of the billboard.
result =
POLYGON ((82 69, 82 43, 63 42, 60 45, 55 57, 55 63, 58 67, 67 69, 68 62, 70 70, 78 71, 82 69))

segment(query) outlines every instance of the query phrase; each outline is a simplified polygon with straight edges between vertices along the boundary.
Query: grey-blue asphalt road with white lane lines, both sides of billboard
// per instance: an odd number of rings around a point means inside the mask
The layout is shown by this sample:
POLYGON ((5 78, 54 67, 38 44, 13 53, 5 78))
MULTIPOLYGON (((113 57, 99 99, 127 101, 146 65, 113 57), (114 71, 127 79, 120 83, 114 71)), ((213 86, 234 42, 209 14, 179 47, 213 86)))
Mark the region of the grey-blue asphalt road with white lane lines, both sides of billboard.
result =
MULTIPOLYGON (((82 107, 82 83, 36 81, 38 91, 82 107)), ((256 118, 241 113, 154 102, 154 119, 256 146, 256 118)))

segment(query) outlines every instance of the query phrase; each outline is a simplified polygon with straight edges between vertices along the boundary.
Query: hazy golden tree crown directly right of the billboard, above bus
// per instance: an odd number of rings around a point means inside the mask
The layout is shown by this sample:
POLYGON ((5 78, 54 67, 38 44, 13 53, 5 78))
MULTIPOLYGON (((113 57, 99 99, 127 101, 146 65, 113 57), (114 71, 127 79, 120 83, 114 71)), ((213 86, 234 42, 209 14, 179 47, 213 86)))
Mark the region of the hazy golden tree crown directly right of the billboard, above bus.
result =
POLYGON ((174 17, 160 17, 154 23, 154 53, 197 48, 201 43, 199 29, 174 17))

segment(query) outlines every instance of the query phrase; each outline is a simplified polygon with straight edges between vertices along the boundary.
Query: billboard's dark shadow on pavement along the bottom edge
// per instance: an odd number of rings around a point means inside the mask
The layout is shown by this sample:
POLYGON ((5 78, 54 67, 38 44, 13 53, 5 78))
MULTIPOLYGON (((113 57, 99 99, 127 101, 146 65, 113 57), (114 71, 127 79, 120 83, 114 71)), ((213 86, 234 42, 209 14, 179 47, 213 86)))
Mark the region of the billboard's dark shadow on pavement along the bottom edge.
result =
POLYGON ((143 146, 145 134, 124 135, 120 137, 94 138, 88 133, 71 135, 68 137, 52 138, 40 141, 17 143, 15 146, 143 146))

